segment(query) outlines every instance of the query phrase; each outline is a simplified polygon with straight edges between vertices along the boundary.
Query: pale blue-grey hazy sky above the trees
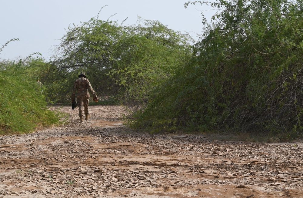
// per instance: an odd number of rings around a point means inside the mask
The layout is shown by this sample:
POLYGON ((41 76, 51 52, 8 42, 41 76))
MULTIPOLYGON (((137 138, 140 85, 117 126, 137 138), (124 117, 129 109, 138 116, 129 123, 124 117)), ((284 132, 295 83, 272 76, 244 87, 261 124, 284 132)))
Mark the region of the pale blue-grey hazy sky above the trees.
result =
MULTIPOLYGON (((0 59, 16 60, 39 52, 40 57, 49 61, 52 49, 60 43, 68 26, 89 21, 105 5, 99 15, 101 20, 116 14, 111 20, 121 24, 128 18, 124 25, 134 25, 140 16, 195 37, 202 33, 201 12, 207 8, 200 5, 185 8, 185 2, 187 0, 0 0, 0 48, 10 39, 20 39, 8 44, 0 52, 0 59)), ((204 14, 207 16, 207 12, 204 14)))

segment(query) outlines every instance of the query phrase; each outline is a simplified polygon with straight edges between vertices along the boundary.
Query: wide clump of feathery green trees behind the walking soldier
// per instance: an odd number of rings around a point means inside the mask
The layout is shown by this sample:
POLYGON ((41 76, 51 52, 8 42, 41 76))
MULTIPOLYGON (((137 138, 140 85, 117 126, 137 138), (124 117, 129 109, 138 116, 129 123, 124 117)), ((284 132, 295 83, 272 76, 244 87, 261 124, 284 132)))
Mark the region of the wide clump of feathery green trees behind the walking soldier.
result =
POLYGON ((99 96, 119 101, 145 101, 149 92, 184 63, 188 38, 158 21, 137 25, 92 18, 70 26, 46 71, 48 96, 64 101, 80 71, 99 96))

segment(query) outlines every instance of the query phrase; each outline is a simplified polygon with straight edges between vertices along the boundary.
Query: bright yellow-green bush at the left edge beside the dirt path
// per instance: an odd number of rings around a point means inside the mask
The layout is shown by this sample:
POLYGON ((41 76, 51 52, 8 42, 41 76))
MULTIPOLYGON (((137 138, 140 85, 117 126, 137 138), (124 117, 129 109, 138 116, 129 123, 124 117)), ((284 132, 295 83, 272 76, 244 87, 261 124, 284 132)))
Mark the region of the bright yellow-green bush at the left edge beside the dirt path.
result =
POLYGON ((0 62, 0 134, 30 132, 37 127, 58 123, 48 110, 30 59, 0 62))

